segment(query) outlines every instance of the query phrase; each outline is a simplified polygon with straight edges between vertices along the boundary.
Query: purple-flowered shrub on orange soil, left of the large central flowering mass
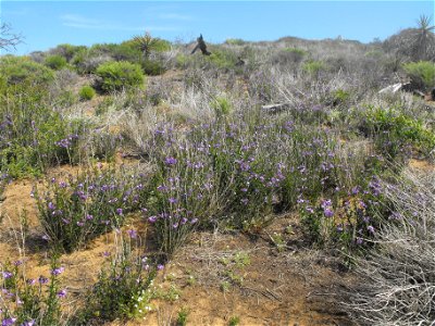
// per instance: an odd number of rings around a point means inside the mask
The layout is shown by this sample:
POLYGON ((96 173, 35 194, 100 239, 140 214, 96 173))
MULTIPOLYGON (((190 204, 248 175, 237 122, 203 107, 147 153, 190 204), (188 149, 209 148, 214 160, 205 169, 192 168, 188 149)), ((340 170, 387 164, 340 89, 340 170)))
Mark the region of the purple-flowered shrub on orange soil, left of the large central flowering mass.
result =
POLYGON ((47 190, 35 189, 46 238, 71 252, 113 227, 123 225, 139 203, 139 176, 126 171, 95 168, 67 180, 51 179, 47 190))

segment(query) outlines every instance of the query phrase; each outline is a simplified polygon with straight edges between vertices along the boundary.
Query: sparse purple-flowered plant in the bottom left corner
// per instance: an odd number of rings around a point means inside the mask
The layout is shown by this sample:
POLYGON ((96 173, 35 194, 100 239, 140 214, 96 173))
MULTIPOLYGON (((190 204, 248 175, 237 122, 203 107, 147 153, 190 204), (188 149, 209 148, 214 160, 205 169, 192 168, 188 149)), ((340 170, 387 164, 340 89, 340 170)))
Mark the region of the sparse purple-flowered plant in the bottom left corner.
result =
POLYGON ((48 277, 27 278, 25 262, 1 265, 0 321, 1 325, 62 325, 61 300, 66 297, 60 288, 59 275, 63 267, 52 256, 48 277))

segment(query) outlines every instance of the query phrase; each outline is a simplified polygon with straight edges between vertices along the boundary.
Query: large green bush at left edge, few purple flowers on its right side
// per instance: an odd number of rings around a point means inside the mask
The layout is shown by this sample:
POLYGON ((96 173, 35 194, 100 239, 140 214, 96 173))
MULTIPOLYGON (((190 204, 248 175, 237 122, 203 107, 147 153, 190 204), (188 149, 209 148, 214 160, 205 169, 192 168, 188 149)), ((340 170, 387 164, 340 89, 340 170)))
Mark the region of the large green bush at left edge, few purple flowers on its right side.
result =
POLYGON ((11 177, 39 174, 54 163, 72 163, 80 123, 50 109, 40 87, 0 87, 0 170, 11 177))

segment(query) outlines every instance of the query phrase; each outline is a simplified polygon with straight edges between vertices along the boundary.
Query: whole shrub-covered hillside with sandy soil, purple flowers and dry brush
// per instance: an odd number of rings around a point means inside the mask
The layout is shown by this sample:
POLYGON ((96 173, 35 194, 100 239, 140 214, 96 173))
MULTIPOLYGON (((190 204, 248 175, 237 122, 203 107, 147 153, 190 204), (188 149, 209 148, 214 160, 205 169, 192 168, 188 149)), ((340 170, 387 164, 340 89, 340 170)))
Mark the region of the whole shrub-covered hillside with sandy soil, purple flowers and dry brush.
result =
POLYGON ((423 32, 0 57, 2 325, 432 325, 423 32))

